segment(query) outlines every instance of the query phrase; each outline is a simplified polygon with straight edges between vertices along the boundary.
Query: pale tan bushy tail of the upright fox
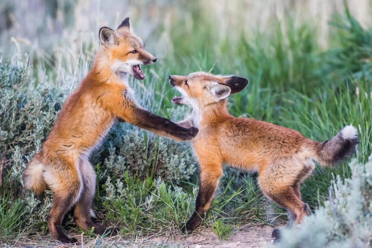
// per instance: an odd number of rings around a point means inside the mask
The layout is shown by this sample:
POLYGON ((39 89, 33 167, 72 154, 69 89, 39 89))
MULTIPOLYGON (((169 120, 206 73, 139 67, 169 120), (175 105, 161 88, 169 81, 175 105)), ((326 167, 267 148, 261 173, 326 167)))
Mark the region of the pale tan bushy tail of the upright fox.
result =
POLYGON ((33 158, 23 173, 23 183, 26 189, 32 189, 36 194, 43 193, 47 186, 43 178, 43 164, 33 158))

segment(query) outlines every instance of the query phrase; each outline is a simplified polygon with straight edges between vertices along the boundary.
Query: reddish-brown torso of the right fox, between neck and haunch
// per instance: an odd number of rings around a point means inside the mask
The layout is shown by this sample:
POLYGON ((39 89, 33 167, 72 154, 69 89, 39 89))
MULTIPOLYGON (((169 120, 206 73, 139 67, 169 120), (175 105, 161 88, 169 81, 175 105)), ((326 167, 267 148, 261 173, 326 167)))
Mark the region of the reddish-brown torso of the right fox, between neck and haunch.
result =
POLYGON ((223 163, 255 171, 263 164, 293 156, 310 141, 295 130, 246 118, 221 120, 199 132, 194 141, 196 152, 212 149, 223 163))

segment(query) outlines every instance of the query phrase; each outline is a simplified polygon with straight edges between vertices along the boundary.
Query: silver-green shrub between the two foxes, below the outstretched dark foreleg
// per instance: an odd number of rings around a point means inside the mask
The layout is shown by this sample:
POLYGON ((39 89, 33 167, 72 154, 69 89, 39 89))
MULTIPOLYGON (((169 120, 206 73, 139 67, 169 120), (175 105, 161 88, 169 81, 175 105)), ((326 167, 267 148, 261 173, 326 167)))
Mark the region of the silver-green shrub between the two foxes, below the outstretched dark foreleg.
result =
POLYGON ((190 178, 195 158, 186 143, 158 138, 129 124, 116 125, 107 142, 109 156, 104 165, 112 179, 124 179, 124 172, 140 179, 161 177, 165 181, 190 178))

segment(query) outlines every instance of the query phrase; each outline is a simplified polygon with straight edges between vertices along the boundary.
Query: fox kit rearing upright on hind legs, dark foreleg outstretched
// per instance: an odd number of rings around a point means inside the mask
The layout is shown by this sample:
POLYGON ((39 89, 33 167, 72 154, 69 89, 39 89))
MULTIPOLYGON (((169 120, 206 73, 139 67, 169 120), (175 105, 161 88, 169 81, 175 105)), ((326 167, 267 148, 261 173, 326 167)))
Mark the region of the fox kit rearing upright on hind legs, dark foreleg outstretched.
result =
POLYGON ((144 79, 140 65, 152 64, 156 58, 129 30, 129 18, 124 19, 116 31, 101 28, 99 38, 102 49, 93 68, 67 99, 42 150, 24 172, 26 189, 37 194, 47 188, 52 190, 48 227, 52 236, 64 243, 76 242, 69 239, 61 227, 63 216, 72 206, 75 206, 74 220, 79 227, 84 230, 94 227, 100 235, 107 230, 93 223, 90 217, 96 174, 89 155, 117 118, 177 140, 191 139, 197 133, 194 127, 186 129, 136 104, 128 86, 128 74, 144 79))

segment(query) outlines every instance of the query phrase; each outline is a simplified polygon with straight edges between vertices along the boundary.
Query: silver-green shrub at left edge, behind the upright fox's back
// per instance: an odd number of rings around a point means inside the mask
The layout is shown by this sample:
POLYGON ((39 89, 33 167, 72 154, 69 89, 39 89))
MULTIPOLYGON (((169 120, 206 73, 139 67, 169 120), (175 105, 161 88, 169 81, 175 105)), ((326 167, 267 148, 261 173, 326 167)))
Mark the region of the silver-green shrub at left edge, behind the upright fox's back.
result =
MULTIPOLYGON (((39 84, 30 79, 27 61, 14 59, 0 62, 0 161, 3 164, 1 191, 7 193, 5 201, 22 199, 23 212, 17 220, 22 229, 45 230, 46 218, 51 206, 51 194, 43 199, 22 190, 22 174, 32 156, 53 126, 61 110, 66 93, 49 84, 39 84), (25 225, 25 227, 23 227, 25 225)), ((3 213, 11 210, 1 209, 3 213)), ((4 216, 6 218, 6 214, 4 216)), ((5 232, 0 228, 0 233, 5 232)), ((8 230, 11 231, 11 230, 8 230)))

